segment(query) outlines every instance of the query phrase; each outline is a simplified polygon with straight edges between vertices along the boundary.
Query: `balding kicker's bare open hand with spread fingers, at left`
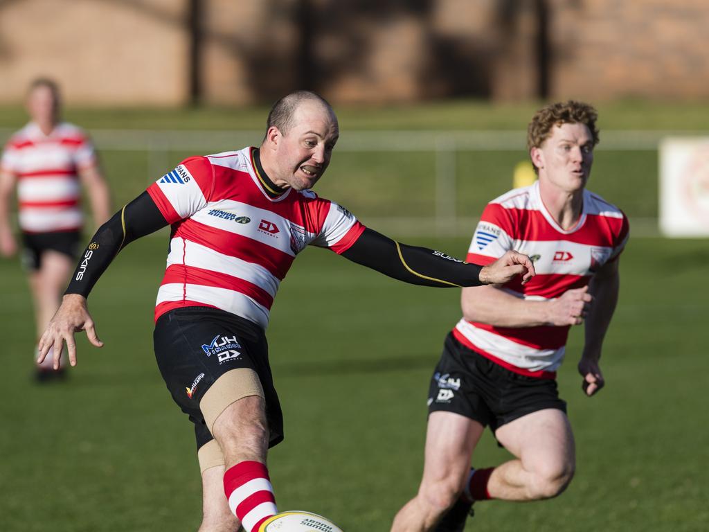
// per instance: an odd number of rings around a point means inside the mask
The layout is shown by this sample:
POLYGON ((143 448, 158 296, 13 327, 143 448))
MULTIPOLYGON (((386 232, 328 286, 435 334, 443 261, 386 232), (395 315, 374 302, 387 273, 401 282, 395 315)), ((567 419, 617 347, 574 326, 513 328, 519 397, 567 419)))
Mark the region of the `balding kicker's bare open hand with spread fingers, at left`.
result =
POLYGON ((62 306, 59 307, 57 314, 49 322, 42 338, 40 338, 40 354, 37 362, 39 364, 44 362, 47 353, 53 347, 54 369, 58 370, 64 343, 66 343, 69 364, 77 365, 77 344, 74 341, 74 333, 77 331, 86 331, 89 342, 96 345, 97 348, 104 346, 104 343, 96 336, 94 320, 86 308, 86 298, 79 294, 67 294, 62 299, 62 306))

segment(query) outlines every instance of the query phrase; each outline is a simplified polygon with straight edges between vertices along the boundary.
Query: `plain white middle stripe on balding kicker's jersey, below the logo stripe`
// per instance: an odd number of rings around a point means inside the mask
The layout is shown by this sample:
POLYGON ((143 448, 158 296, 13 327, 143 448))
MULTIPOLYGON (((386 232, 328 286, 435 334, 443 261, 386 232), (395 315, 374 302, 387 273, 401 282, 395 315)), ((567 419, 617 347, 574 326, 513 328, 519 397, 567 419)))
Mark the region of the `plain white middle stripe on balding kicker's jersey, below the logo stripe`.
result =
POLYGON ((254 262, 247 262, 237 257, 229 257, 204 245, 176 237, 170 242, 167 265, 186 265, 203 270, 224 273, 238 277, 276 297, 281 281, 266 268, 254 262))

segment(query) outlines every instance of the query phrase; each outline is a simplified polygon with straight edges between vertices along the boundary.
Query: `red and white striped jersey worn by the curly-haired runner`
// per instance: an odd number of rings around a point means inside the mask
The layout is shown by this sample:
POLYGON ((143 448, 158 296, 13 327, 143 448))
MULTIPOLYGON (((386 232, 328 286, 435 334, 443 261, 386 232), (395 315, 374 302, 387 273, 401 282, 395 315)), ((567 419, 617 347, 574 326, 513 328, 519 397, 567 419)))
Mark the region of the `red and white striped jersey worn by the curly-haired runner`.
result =
MULTIPOLYGON (((508 250, 529 255, 537 275, 524 286, 517 277, 502 289, 517 297, 544 301, 586 286, 593 272, 616 260, 625 246, 628 228, 623 211, 584 190, 579 223, 564 231, 542 203, 539 182, 535 182, 486 206, 467 260, 488 265, 508 250)), ((462 318, 453 334, 510 370, 553 378, 564 358, 569 326, 495 327, 462 318)))

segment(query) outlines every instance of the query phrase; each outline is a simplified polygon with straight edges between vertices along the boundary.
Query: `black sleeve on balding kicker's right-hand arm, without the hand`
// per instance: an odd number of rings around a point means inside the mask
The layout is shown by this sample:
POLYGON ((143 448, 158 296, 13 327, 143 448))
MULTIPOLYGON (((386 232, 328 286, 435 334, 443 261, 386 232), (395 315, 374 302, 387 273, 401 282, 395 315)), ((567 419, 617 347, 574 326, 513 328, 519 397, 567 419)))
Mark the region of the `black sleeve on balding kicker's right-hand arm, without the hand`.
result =
POLYGON ((342 256, 389 275, 426 287, 477 287, 482 266, 469 264, 440 251, 418 248, 391 240, 372 229, 364 233, 342 256))

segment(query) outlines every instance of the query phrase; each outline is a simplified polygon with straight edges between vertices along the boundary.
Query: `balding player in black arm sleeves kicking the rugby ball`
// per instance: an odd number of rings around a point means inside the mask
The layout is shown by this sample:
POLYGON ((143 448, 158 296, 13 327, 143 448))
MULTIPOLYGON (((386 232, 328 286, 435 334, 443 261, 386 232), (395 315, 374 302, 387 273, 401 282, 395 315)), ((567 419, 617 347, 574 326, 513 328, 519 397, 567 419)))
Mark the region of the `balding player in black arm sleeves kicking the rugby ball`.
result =
MULTIPOLYGON (((174 401, 194 423, 203 485, 200 531, 258 530, 277 513, 267 449, 283 419, 264 336, 279 284, 307 245, 328 248, 396 279, 432 287, 501 282, 534 273, 510 251, 486 267, 403 245, 365 228, 311 187, 339 137, 330 105, 312 92, 279 100, 260 148, 191 157, 99 228, 40 341, 40 358, 74 331, 101 346, 86 297, 119 250, 170 225, 155 307, 155 355, 174 401)), ((326 309, 324 309, 326 311, 326 309)), ((303 340, 319 316, 301 317, 303 340)))

